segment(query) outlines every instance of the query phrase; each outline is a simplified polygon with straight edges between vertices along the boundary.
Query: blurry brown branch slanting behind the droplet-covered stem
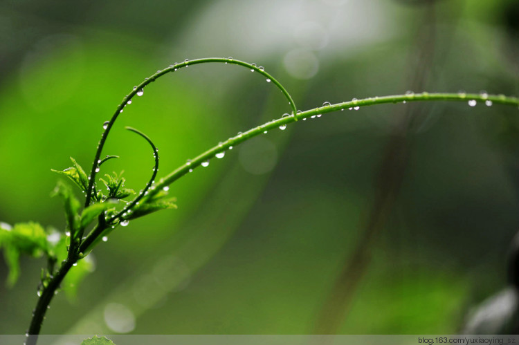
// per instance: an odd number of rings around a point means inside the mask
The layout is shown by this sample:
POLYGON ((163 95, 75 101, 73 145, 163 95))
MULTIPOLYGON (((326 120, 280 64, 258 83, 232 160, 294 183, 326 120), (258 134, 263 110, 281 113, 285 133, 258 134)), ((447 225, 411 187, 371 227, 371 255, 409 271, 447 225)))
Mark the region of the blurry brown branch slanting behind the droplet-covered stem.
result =
MULTIPOLYGON (((435 3, 427 3, 423 8, 424 23, 415 37, 417 50, 410 54, 413 68, 410 85, 413 90, 423 90, 428 80, 435 53, 436 18, 435 3)), ((370 265, 371 247, 374 238, 379 234, 392 212, 392 206, 399 194, 406 173, 409 156, 408 133, 416 115, 424 111, 420 104, 409 104, 400 115, 390 135, 385 154, 374 180, 374 202, 367 221, 363 226, 361 238, 352 254, 345 259, 342 269, 325 298, 317 319, 314 334, 336 334, 347 310, 352 303, 361 279, 370 265)), ((424 114, 422 114, 424 115, 424 114)))

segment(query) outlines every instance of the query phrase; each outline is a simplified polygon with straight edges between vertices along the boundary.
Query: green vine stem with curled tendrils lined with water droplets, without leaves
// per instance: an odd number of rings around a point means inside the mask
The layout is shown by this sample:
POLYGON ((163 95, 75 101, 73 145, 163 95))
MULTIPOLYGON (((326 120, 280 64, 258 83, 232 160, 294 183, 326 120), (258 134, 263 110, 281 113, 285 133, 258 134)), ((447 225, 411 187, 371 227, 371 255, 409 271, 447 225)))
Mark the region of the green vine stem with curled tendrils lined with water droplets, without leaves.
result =
POLYGON ((122 103, 117 107, 116 112, 112 115, 111 120, 108 122, 105 122, 104 124, 104 131, 102 133, 101 140, 98 144, 97 151, 95 153, 95 159, 93 160, 93 165, 90 173, 89 178, 89 185, 86 190, 86 200, 85 200, 85 207, 89 206, 92 201, 93 191, 95 190, 95 174, 99 171, 99 166, 104 162, 105 160, 109 158, 115 158, 115 156, 107 156, 107 158, 104 158, 104 160, 100 160, 101 152, 104 147, 104 143, 107 140, 107 136, 109 134, 109 131, 111 130, 111 127, 113 126, 113 123, 117 120, 118 115, 122 112, 122 109, 126 106, 126 104, 129 103, 132 97, 134 95, 142 95, 143 88, 147 86, 147 84, 154 82, 158 77, 161 77, 162 75, 165 75, 166 73, 174 72, 178 68, 187 68, 190 65, 194 64, 204 64, 204 63, 210 63, 210 62, 217 62, 217 63, 225 63, 225 64, 236 64, 239 66, 244 66, 246 68, 249 68, 253 72, 257 72, 260 75, 263 75, 266 77, 267 82, 272 82, 277 86, 277 88, 280 89, 280 91, 283 93, 284 97, 286 97, 286 100, 288 100, 289 105, 291 106, 292 112, 291 114, 284 114, 282 118, 278 118, 277 120, 273 120, 271 122, 266 122, 265 124, 262 124, 261 126, 255 127, 253 129, 249 129, 248 131, 244 133, 238 133, 237 136, 231 137, 225 142, 219 143, 217 146, 212 147, 211 149, 208 149, 208 151, 205 151, 201 153, 199 156, 193 158, 192 160, 188 160, 185 162, 185 164, 181 165, 174 171, 172 171, 167 176, 161 178, 161 180, 158 181, 158 183, 154 183, 154 179, 156 177, 157 169, 158 169, 158 152, 151 140, 145 134, 141 133, 140 131, 137 131, 136 129, 127 128, 130 131, 134 131, 138 135, 142 136, 149 142, 149 144, 152 146, 152 149, 154 151, 154 158, 155 158, 155 167, 154 172, 152 175, 152 178, 149 180, 149 183, 147 183, 145 189, 143 189, 143 192, 141 192, 137 198, 134 199, 127 207, 122 209, 121 212, 116 214, 116 216, 111 217, 108 221, 104 219, 104 214, 102 214, 99 217, 98 225, 94 227, 93 230, 86 236, 82 237, 83 234, 79 234, 80 243, 71 243, 71 247, 69 248, 69 256, 65 261, 62 262, 62 265, 59 270, 51 277, 50 281, 48 282, 48 285, 44 290, 42 291, 42 295, 39 297, 37 301, 37 306, 34 310, 33 317, 30 321, 30 327, 28 329, 28 339, 27 339, 27 345, 35 345, 37 342, 37 335, 39 334, 39 331, 42 327, 42 322, 45 317, 46 310, 48 309, 49 304, 51 303, 51 300, 55 293, 57 292, 57 289, 60 288, 60 283, 62 283, 62 280, 64 279, 65 275, 74 263, 78 261, 78 259, 82 259, 86 254, 88 254, 86 251, 91 249, 91 246, 95 243, 96 239, 104 232, 104 230, 107 230, 109 227, 111 227, 111 222, 116 220, 116 218, 122 219, 124 218, 125 212, 131 211, 131 207, 136 205, 140 198, 143 198, 143 195, 148 193, 149 197, 152 197, 156 195, 158 192, 160 192, 164 187, 172 184, 174 181, 178 180, 185 174, 190 173, 193 169, 196 169, 197 167, 201 165, 206 165, 208 161, 212 158, 218 157, 222 154, 224 154, 225 151, 228 151, 230 149, 233 149, 237 144, 240 144, 241 142, 244 142, 248 139, 251 139, 255 136, 259 136, 262 133, 265 133, 266 131, 269 131, 271 129, 285 129, 286 125, 295 122, 298 120, 307 120, 308 118, 315 118, 320 117, 322 114, 325 113, 331 113, 334 111, 344 111, 345 109, 349 110, 358 110, 359 108, 363 106, 372 106, 376 104, 385 104, 385 103, 401 103, 401 102, 423 102, 423 101, 452 101, 452 102, 468 102, 468 106, 475 106, 477 103, 485 104, 486 106, 491 106, 493 104, 507 104, 507 105, 513 105, 513 106, 519 106, 519 98, 518 97, 507 97, 504 95, 488 95, 486 93, 411 93, 408 92, 405 95, 390 95, 390 96, 384 96, 384 97, 370 97, 365 98, 362 100, 356 100, 353 99, 349 102, 340 102, 337 104, 329 104, 329 102, 325 102, 322 106, 307 110, 307 111, 297 111, 297 108, 295 107, 295 103, 292 100, 292 97, 289 95, 289 93, 286 91, 286 89, 279 83, 277 80, 275 80, 274 77, 272 77, 270 74, 266 73, 264 71, 264 68, 257 67, 255 64, 248 64, 247 62, 242 62, 239 60, 235 60, 231 57, 229 58, 206 58, 206 59, 195 59, 195 60, 185 60, 184 62, 180 64, 173 64, 168 68, 165 68, 163 71, 158 71, 151 77, 144 80, 142 83, 140 83, 138 86, 134 87, 134 90, 131 91, 124 99, 122 100, 122 103))

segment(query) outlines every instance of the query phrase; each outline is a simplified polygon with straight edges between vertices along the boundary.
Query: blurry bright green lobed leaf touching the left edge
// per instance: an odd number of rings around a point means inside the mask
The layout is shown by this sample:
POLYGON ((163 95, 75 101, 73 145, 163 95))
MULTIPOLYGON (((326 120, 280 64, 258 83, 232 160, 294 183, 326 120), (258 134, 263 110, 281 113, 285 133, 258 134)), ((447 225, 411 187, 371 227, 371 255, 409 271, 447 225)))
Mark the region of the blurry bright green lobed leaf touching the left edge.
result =
POLYGON ((50 252, 44 228, 33 222, 19 223, 12 228, 6 223, 0 223, 0 248, 3 248, 3 256, 9 268, 8 286, 15 285, 19 277, 20 254, 42 257, 50 252))

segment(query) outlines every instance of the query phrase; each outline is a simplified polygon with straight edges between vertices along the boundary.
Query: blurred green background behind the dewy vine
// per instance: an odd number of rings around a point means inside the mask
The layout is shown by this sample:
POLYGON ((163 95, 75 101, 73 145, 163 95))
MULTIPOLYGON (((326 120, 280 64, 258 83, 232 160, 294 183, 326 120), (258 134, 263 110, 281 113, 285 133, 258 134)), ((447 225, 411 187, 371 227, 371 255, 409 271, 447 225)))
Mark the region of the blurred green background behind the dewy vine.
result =
MULTIPOLYGON (((519 94, 515 0, 0 2, 0 221, 64 228, 51 168, 91 166, 122 97, 185 58, 255 62, 306 110, 413 91, 519 94)), ((245 68, 166 75, 104 154, 140 189, 289 111, 245 68)), ((170 188, 179 209, 118 228, 43 333, 455 333, 506 284, 519 229, 519 117, 507 106, 388 104, 291 124, 170 188)), ((44 261, 0 284, 24 333, 44 261)), ((7 268, 0 263, 0 279, 7 268)))

